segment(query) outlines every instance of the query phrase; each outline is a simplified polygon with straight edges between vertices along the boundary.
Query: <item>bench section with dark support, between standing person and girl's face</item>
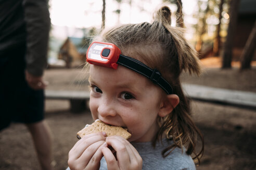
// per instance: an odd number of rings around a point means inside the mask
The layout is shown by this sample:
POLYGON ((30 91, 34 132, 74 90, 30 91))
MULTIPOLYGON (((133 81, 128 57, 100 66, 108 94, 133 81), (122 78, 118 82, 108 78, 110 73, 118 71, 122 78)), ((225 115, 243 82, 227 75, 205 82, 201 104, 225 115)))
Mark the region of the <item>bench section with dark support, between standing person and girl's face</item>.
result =
POLYGON ((71 90, 45 90, 46 99, 69 100, 71 112, 81 112, 86 108, 86 102, 89 100, 88 91, 71 90))

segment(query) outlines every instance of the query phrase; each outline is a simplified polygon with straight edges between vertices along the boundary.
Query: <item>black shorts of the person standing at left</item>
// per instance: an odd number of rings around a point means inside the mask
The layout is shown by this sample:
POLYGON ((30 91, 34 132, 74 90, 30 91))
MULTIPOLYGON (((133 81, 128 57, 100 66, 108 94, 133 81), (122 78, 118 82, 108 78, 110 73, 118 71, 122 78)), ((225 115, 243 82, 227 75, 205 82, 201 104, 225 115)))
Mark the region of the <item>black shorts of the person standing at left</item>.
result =
POLYGON ((44 91, 25 81, 25 46, 0 54, 0 130, 11 122, 35 123, 44 119, 44 91))

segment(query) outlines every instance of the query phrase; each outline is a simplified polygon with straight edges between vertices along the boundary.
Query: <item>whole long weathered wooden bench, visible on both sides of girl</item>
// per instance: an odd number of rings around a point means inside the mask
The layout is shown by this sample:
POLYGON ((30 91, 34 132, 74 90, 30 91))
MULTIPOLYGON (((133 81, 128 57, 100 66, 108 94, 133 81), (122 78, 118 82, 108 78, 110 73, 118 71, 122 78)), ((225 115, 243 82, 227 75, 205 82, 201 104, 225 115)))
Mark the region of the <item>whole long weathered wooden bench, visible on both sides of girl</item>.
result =
MULTIPOLYGON (((232 105, 246 108, 256 108, 256 93, 199 86, 196 84, 182 84, 185 95, 192 100, 232 105)), ((86 109, 89 100, 88 91, 45 90, 46 99, 70 100, 72 112, 86 109)))

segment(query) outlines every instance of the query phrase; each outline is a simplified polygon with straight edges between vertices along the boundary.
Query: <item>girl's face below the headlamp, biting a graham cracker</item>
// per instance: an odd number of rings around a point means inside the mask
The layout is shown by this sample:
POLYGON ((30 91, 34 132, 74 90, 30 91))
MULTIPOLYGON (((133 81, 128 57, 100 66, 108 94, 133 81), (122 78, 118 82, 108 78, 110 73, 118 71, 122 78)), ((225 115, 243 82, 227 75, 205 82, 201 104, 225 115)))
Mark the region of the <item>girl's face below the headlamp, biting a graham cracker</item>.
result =
POLYGON ((130 141, 151 141, 159 126, 160 87, 133 70, 91 65, 89 107, 93 119, 122 126, 132 134, 130 141))

